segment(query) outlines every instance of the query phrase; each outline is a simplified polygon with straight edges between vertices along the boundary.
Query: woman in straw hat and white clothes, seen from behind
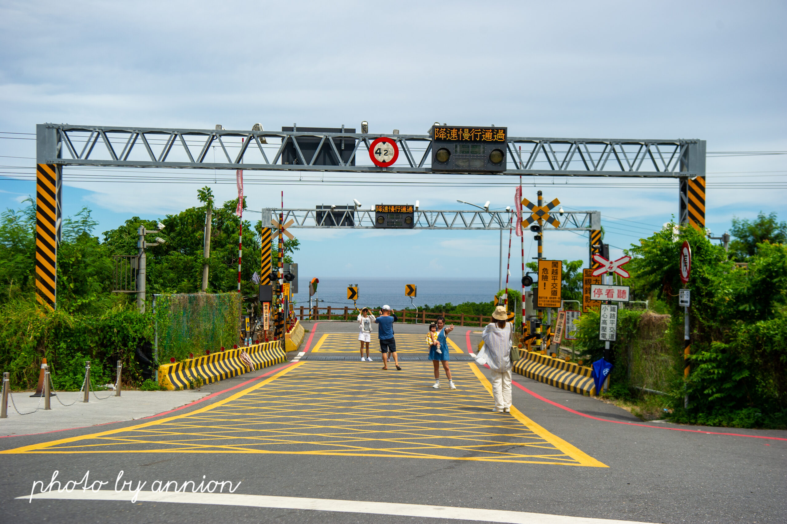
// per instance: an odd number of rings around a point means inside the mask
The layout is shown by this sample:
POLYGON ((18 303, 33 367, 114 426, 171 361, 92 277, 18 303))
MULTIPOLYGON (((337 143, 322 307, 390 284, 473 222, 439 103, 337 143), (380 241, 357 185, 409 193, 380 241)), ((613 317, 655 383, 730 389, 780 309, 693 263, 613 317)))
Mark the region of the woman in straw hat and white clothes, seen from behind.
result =
POLYGON ((495 308, 492 318, 495 320, 484 328, 481 337, 484 347, 478 356, 486 360, 492 372, 492 394, 496 413, 511 411, 511 342, 512 329, 506 319, 505 308, 495 308))

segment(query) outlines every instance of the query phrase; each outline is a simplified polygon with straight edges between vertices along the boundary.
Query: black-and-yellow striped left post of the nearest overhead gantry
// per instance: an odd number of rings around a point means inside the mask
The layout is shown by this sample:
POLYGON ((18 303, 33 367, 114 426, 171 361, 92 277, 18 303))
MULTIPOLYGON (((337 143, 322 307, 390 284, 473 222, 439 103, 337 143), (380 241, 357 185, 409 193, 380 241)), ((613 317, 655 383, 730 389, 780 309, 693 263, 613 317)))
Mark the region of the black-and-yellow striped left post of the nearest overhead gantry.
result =
POLYGON ((60 243, 62 168, 38 164, 35 170, 35 298, 57 306, 57 244, 60 243))

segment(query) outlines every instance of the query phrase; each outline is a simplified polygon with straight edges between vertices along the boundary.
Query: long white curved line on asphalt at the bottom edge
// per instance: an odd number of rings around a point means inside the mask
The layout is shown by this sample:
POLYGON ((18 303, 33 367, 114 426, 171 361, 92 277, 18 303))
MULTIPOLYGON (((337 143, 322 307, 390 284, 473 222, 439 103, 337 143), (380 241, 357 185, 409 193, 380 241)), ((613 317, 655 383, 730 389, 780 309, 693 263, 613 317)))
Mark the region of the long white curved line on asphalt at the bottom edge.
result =
MULTIPOLYGON (((130 502, 136 492, 101 491, 45 492, 33 499, 64 500, 115 500, 130 502)), ((17 496, 17 500, 30 500, 30 495, 17 496)), ((429 506, 425 504, 395 504, 390 502, 365 502, 362 500, 307 499, 296 496, 240 495, 238 493, 190 493, 140 491, 140 502, 173 502, 182 504, 216 504, 219 506, 276 507, 296 510, 338 511, 342 513, 368 513, 371 515, 401 515, 422 518, 453 518, 481 522, 510 522, 512 524, 646 524, 630 520, 607 518, 567 517, 523 511, 488 510, 475 507, 429 506)))

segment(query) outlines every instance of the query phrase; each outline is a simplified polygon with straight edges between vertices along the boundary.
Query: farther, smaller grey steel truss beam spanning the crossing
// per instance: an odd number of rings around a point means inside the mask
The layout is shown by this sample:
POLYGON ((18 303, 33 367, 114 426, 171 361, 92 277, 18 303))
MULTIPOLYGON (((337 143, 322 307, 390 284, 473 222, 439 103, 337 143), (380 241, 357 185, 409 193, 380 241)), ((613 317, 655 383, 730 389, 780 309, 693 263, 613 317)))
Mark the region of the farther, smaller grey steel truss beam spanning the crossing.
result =
MULTIPOLYGON (((262 217, 279 220, 284 213, 284 223, 290 220, 293 224, 287 229, 375 229, 374 210, 310 210, 310 209, 276 209, 265 208, 262 217), (353 225, 334 225, 348 224, 353 225)), ((412 229, 461 229, 499 231, 511 227, 512 218, 516 215, 510 211, 441 211, 416 210, 415 227, 412 229)), ((566 211, 556 214, 560 220, 559 228, 545 228, 545 231, 590 231, 601 228, 599 211, 566 211)))

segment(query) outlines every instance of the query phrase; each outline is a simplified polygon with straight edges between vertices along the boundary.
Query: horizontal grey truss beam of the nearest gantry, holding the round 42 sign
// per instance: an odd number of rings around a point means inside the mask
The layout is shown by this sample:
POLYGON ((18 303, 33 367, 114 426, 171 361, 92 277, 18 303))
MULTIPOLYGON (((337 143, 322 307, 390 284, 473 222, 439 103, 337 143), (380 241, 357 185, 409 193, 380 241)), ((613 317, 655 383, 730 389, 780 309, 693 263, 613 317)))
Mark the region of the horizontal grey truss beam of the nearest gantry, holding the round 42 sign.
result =
MULTIPOLYGON (((389 168, 348 165, 368 162, 368 147, 380 134, 227 131, 214 129, 136 128, 39 124, 38 163, 185 169, 250 169, 360 173, 432 173, 429 135, 397 135, 400 160, 389 168), (298 139, 320 139, 309 158, 298 139), (53 139, 54 138, 54 139, 53 139), (342 163, 333 139, 354 139, 349 162, 342 163), (297 164, 284 164, 292 143, 297 164), (337 165, 314 165, 320 152, 337 165), (209 154, 210 153, 210 154, 209 154), (218 157, 213 160, 214 154, 218 157), (220 158, 220 160, 219 160, 220 158), (224 162, 226 160, 226 162, 224 162)), ((704 140, 567 139, 509 137, 508 167, 503 175, 559 177, 704 176, 704 140), (701 159, 699 157, 702 157, 701 159)), ((475 173, 478 174, 478 173, 475 173)))

